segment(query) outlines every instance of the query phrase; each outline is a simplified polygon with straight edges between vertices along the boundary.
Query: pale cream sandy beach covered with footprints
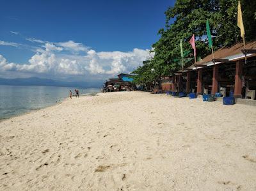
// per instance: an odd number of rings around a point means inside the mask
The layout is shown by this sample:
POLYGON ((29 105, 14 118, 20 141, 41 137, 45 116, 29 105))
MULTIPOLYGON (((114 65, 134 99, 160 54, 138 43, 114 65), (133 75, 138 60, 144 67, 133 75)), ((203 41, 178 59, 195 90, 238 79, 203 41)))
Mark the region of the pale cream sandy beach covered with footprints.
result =
POLYGON ((0 190, 256 190, 256 107, 100 93, 1 121, 0 190))

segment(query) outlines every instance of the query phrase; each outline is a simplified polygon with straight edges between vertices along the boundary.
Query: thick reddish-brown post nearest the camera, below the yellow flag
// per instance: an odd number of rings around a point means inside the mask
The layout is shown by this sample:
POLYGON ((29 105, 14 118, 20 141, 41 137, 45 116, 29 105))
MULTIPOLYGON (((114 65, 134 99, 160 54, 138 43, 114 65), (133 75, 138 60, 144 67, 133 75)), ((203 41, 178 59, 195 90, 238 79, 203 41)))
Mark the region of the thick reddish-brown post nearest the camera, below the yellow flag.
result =
POLYGON ((236 61, 236 79, 235 79, 235 91, 234 96, 242 98, 243 88, 243 63, 241 60, 236 61))

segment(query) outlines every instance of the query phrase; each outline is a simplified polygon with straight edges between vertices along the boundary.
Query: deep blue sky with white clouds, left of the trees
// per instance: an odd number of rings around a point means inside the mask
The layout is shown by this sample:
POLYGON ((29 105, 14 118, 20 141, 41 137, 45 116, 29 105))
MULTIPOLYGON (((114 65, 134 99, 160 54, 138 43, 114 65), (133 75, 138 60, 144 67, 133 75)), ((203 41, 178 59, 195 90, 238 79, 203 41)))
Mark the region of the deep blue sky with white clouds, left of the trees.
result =
POLYGON ((0 77, 7 71, 8 77, 102 79, 131 72, 147 59, 164 27, 164 11, 173 4, 2 0, 0 77))

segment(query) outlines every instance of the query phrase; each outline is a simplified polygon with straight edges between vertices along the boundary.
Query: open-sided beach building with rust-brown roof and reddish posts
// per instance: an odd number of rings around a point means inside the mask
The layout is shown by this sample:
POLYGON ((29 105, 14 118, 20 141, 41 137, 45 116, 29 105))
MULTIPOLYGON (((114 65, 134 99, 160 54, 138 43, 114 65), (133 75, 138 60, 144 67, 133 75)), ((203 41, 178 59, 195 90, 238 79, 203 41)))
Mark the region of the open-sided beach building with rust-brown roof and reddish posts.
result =
POLYGON ((163 77, 163 91, 234 96, 255 100, 256 41, 223 47, 174 75, 163 77))

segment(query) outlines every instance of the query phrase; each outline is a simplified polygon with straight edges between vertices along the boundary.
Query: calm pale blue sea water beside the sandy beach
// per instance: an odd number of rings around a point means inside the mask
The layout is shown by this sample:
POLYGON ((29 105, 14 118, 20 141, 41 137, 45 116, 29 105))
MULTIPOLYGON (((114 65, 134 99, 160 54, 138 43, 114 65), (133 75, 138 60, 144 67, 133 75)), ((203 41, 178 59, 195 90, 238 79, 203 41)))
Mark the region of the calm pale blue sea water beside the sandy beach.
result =
POLYGON ((80 95, 100 91, 97 88, 0 85, 0 119, 54 105, 67 98, 69 90, 74 93, 74 89, 79 89, 80 95))

